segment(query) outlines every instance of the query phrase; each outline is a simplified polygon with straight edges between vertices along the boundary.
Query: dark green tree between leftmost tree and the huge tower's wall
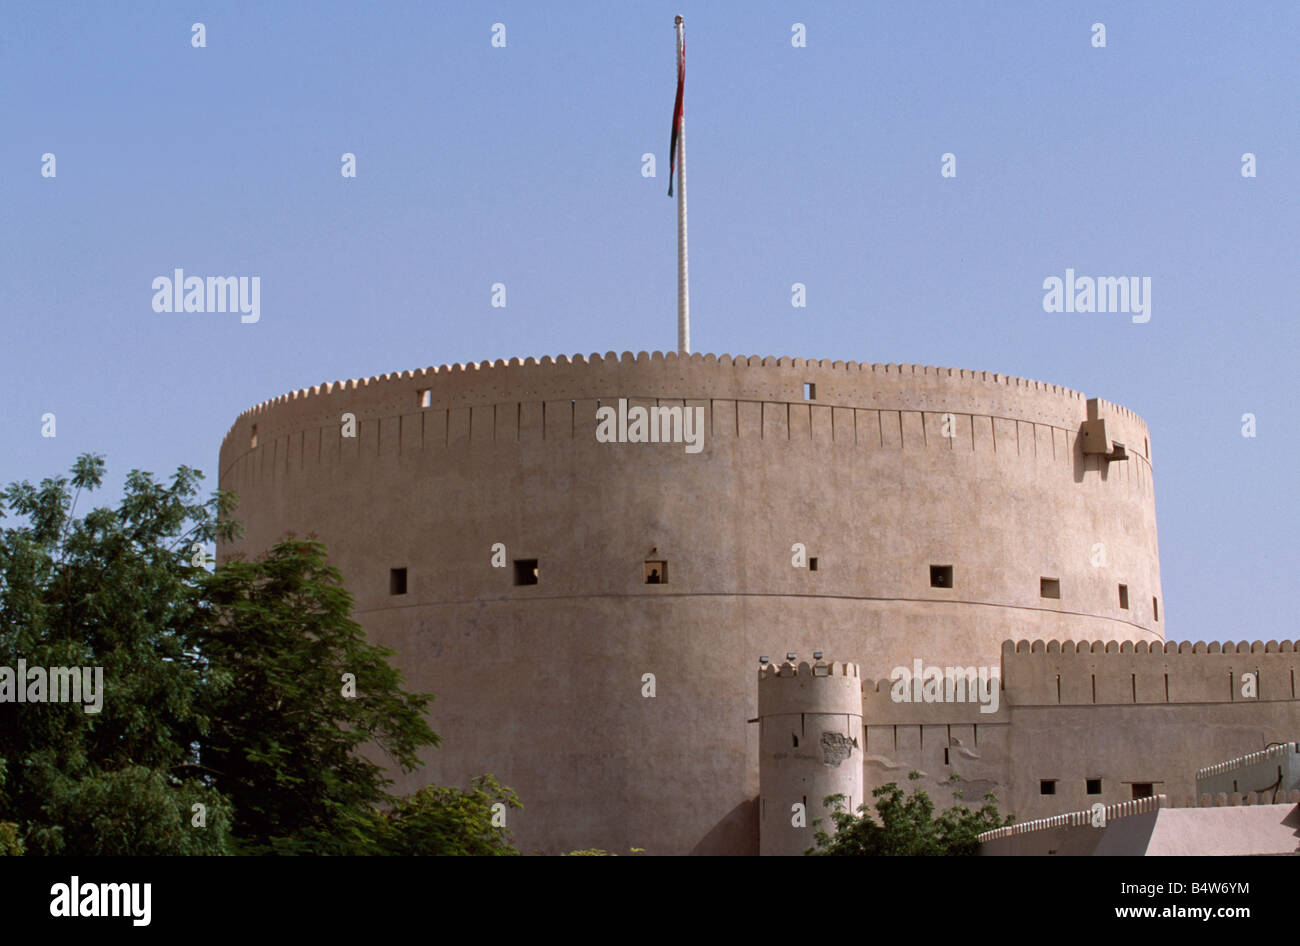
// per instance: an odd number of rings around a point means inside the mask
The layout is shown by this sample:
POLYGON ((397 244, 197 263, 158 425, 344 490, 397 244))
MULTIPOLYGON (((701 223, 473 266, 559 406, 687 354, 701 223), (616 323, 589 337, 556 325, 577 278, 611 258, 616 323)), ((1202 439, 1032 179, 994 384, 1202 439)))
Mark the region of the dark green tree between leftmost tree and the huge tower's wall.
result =
POLYGON ((374 807, 394 799, 360 750, 415 769, 419 750, 438 745, 424 719, 432 697, 402 690, 393 651, 351 620, 352 596, 320 542, 226 563, 204 595, 202 771, 234 804, 239 850, 368 852, 374 807))

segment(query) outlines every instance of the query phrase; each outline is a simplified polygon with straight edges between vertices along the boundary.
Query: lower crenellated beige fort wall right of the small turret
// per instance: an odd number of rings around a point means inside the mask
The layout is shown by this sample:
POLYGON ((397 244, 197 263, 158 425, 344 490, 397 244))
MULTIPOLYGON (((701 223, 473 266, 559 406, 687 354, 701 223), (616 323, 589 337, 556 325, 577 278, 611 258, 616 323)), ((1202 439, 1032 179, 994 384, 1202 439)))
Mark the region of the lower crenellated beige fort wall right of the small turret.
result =
POLYGON ((1290 641, 1008 641, 993 713, 896 702, 888 680, 864 681, 864 791, 916 769, 946 806, 957 773, 967 803, 992 791, 1019 820, 1144 794, 1196 798, 1199 768, 1296 738, 1296 677, 1290 641))

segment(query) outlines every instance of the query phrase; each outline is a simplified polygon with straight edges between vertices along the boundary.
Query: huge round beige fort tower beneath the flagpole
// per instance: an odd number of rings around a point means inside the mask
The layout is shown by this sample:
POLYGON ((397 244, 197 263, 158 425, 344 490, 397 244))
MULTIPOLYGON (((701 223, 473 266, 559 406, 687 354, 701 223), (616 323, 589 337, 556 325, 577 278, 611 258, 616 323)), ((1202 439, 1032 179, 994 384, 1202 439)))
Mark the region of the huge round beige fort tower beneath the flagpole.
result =
POLYGON ((879 680, 993 667, 1006 639, 1164 639, 1147 438, 987 372, 443 365, 242 413, 218 485, 246 533, 218 559, 325 542, 367 635, 437 697, 442 746, 395 790, 490 772, 526 852, 754 854, 760 655, 879 680))

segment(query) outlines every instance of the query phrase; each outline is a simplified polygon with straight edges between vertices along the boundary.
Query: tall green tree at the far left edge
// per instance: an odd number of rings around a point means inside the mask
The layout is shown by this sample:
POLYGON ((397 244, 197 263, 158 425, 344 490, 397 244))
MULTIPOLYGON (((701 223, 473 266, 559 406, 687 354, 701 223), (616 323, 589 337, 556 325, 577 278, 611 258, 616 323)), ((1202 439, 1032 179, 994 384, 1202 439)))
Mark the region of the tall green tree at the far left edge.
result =
MULTIPOLYGON (((228 806, 181 768, 208 729, 203 665, 190 647, 205 616, 207 572, 188 546, 230 534, 228 496, 194 502, 202 474, 170 485, 133 470, 118 508, 74 518, 104 472, 81 456, 72 478, 0 492, 0 686, 29 668, 101 668, 86 703, 0 703, 4 846, 29 854, 220 854, 228 806), (70 487, 75 487, 75 494, 70 487), (207 828, 191 806, 209 806, 207 828), (17 838, 17 842, 14 842, 17 838)), ((86 694, 82 694, 83 700, 86 694)))

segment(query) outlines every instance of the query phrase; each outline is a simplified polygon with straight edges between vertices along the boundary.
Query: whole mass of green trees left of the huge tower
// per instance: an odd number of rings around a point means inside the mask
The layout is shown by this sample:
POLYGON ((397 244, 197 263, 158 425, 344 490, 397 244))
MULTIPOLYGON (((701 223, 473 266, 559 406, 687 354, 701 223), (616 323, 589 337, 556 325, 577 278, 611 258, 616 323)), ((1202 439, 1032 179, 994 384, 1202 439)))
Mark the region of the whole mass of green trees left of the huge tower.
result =
POLYGON ((0 491, 0 669, 103 669, 99 712, 0 702, 0 854, 514 852, 494 780, 387 793, 367 756, 419 765, 432 697, 365 641, 321 543, 209 572, 230 494, 133 470, 75 517, 103 476, 87 455, 0 491))

